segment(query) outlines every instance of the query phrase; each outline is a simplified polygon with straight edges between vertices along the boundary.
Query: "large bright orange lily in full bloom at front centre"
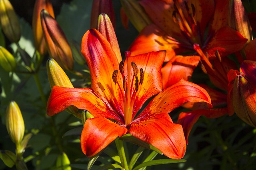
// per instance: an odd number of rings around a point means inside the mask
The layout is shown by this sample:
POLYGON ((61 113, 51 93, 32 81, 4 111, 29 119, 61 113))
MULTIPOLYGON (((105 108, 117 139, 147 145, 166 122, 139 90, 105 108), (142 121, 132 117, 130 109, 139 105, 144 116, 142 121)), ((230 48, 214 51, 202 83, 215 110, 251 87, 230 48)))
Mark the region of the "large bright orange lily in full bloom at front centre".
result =
POLYGON ((127 51, 123 62, 96 29, 84 34, 81 49, 90 68, 91 88, 54 86, 47 112, 52 116, 74 105, 94 116, 85 121, 81 134, 84 154, 94 156, 116 137, 130 133, 169 158, 182 158, 186 150, 182 126, 173 123, 168 113, 188 101, 206 102, 212 107, 207 92, 185 80, 162 91, 160 69, 165 51, 137 56, 127 51))

